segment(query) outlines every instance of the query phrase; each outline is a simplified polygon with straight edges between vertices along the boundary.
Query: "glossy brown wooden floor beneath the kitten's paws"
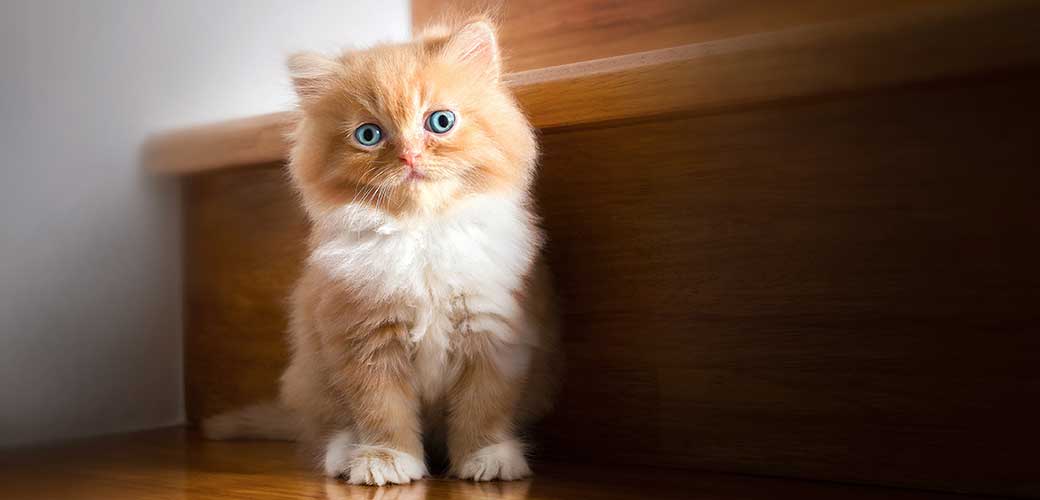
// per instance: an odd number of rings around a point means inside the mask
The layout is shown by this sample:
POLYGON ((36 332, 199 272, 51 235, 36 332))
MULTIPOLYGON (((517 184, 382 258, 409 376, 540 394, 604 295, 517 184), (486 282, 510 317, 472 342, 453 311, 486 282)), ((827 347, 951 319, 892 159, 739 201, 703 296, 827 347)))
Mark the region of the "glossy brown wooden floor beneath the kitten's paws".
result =
MULTIPOLYGON (((350 486, 306 466, 289 443, 208 442, 181 428, 0 451, 0 499, 965 499, 969 497, 693 473, 536 464, 525 481, 426 479, 350 486)), ((978 498, 978 497, 974 497, 978 498)))

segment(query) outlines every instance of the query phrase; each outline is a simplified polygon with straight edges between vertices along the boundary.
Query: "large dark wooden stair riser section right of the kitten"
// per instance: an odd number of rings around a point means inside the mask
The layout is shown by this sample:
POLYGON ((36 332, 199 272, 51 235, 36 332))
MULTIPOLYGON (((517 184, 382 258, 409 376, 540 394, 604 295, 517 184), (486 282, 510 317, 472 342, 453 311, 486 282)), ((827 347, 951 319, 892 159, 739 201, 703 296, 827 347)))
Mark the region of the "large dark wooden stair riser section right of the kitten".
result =
POLYGON ((546 133, 547 452, 1040 495, 1038 84, 546 133))

